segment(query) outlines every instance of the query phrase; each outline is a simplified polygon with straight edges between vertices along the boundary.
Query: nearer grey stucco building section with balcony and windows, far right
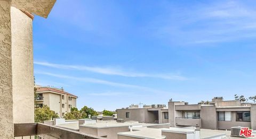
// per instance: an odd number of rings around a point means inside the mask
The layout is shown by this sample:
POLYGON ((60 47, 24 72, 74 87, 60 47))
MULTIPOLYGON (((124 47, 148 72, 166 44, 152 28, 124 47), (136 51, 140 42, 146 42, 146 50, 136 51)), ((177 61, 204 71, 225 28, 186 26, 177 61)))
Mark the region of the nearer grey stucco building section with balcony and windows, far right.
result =
POLYGON ((249 104, 246 106, 240 101, 223 101, 222 99, 210 102, 210 105, 188 105, 185 104, 185 102, 169 102, 169 123, 171 123, 172 127, 197 126, 205 129, 229 130, 234 126, 242 126, 255 129, 255 105, 249 104), (173 107, 173 105, 175 105, 175 107, 173 107), (197 114, 197 116, 191 115, 191 117, 187 117, 185 115, 186 112, 197 114), (222 112, 221 117, 220 112, 222 112), (243 112, 246 112, 250 119, 238 120, 237 114, 241 113, 241 115, 243 115, 243 112), (174 114, 175 116, 173 116, 174 114), (226 114, 227 119, 224 118, 226 114))

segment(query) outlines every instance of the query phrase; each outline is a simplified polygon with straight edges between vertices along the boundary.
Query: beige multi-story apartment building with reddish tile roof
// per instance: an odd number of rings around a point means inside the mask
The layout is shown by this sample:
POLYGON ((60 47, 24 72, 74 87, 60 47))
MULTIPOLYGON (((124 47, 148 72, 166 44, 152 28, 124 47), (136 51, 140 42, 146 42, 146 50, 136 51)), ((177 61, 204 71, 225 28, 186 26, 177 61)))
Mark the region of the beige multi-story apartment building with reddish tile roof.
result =
POLYGON ((78 98, 64 90, 50 87, 37 87, 36 95, 35 107, 47 105, 51 110, 57 112, 60 117, 70 112, 72 107, 76 107, 76 99, 78 98))

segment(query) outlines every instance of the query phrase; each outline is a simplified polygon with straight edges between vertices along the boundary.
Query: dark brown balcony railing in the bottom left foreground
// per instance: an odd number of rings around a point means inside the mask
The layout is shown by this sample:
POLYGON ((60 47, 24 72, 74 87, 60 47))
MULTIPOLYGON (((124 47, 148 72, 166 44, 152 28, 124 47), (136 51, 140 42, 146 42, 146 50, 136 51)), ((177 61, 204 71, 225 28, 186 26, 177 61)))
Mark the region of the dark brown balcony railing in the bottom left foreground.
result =
MULTIPOLYGON (((104 139, 70 129, 50 126, 42 123, 14 124, 14 137, 25 137, 38 135, 42 138, 78 138, 78 139, 104 139)), ((106 138, 105 138, 106 139, 106 138)))

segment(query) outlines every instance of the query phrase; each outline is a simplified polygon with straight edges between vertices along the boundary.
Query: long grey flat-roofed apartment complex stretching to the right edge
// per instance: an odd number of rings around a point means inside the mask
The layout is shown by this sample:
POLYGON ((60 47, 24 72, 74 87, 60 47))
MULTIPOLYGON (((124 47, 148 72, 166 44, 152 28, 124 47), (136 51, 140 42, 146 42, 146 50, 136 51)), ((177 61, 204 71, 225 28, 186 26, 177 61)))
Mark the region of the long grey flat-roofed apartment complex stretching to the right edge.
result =
POLYGON ((256 129, 256 105, 237 100, 223 101, 222 97, 196 105, 170 100, 167 108, 117 109, 117 118, 142 123, 170 123, 172 127, 230 129, 233 126, 243 126, 256 129))

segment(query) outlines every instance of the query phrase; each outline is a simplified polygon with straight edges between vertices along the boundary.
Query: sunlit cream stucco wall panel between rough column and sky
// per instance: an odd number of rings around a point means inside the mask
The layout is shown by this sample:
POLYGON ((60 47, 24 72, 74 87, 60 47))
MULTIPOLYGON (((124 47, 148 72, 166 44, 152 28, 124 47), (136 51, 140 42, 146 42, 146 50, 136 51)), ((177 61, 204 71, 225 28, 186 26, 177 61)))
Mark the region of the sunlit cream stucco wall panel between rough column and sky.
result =
POLYGON ((12 93, 14 123, 34 122, 32 19, 11 7, 12 93))

